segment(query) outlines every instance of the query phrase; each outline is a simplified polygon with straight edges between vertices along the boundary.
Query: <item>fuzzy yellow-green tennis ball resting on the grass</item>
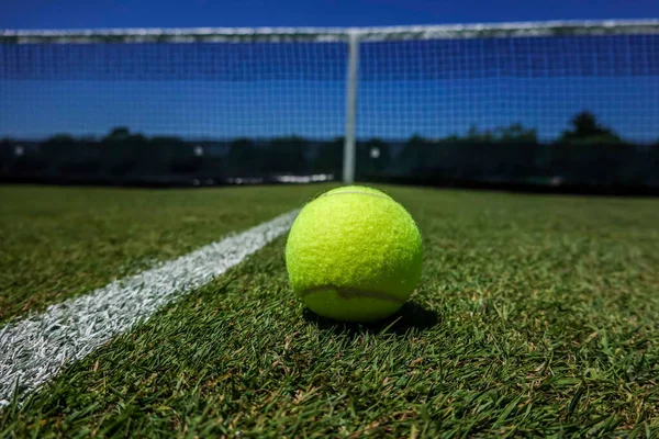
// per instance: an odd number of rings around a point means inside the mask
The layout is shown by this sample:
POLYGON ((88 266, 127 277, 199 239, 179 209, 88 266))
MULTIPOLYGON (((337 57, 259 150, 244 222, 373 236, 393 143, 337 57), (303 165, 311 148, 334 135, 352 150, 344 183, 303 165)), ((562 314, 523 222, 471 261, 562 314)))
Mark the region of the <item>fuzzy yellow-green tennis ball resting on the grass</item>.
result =
POLYGON ((293 291, 314 313, 347 322, 395 313, 418 282, 422 257, 421 234, 407 211, 386 193, 358 185, 306 204, 286 245, 293 291))

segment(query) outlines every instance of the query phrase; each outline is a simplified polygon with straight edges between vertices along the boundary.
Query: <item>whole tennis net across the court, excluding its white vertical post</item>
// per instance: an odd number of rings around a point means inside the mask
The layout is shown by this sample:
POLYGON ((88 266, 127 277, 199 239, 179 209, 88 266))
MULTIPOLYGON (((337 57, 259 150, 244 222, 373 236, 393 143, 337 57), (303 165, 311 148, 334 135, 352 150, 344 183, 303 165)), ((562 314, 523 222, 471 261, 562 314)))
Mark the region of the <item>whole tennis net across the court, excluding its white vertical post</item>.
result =
POLYGON ((4 31, 0 173, 338 176, 350 35, 358 176, 657 183, 652 21, 4 31))

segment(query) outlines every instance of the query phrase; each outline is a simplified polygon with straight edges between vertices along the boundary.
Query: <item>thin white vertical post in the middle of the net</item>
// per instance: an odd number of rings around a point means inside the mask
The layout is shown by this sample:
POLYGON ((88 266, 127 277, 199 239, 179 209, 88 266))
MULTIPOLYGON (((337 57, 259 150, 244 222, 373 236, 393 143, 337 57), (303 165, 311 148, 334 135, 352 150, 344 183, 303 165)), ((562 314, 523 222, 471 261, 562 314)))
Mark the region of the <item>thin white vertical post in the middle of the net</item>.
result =
POLYGON ((355 182, 355 126, 357 119, 357 74, 359 65, 359 34, 348 34, 348 72, 346 83, 346 133, 344 143, 343 181, 355 182))

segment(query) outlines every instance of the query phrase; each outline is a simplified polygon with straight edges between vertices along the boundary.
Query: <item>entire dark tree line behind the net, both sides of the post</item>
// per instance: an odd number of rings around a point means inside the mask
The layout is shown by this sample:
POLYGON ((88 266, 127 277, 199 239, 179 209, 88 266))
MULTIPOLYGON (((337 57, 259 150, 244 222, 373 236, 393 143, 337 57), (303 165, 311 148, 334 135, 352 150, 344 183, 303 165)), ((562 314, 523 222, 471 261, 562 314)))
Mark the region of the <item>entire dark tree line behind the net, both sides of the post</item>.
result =
MULTIPOLYGON (((146 137, 126 127, 94 139, 55 135, 41 143, 0 140, 0 177, 22 181, 222 182, 235 177, 332 173, 340 177, 344 139, 302 137, 189 142, 146 137)), ((625 142, 596 117, 577 114, 555 142, 513 124, 471 127, 440 139, 371 138, 357 144, 361 180, 404 178, 429 182, 526 182, 537 184, 659 187, 659 142, 625 142)))

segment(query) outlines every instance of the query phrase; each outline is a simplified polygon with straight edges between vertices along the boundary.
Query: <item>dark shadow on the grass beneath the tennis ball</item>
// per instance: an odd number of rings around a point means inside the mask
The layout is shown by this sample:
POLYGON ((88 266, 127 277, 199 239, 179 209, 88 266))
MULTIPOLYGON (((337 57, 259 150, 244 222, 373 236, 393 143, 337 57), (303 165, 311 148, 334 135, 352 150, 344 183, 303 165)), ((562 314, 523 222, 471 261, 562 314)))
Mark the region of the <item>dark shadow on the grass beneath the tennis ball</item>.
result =
POLYGON ((405 334, 410 330, 425 330, 437 325, 437 313, 414 302, 406 302, 395 314, 375 323, 348 323, 321 317, 309 308, 304 308, 302 317, 320 329, 328 329, 340 334, 394 333, 405 334))

